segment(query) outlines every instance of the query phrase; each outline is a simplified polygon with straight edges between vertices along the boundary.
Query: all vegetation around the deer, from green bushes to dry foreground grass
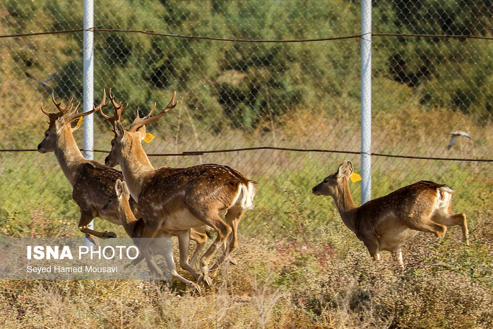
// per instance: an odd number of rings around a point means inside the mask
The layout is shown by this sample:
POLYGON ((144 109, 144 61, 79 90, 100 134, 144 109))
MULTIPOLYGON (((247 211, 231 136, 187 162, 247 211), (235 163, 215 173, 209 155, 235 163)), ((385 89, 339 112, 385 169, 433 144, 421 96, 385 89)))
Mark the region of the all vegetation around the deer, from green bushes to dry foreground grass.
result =
MULTIPOLYGON (((374 1, 376 33, 492 36, 491 3, 374 1)), ((82 3, 7 0, 2 34, 82 27, 82 3)), ((359 34, 354 1, 121 1, 95 3, 95 25, 177 35, 304 39, 359 34)), ((35 148, 50 94, 83 101, 82 35, 0 38, 0 148, 35 148), (38 81, 36 81, 38 80, 38 81)), ((147 129, 148 153, 284 146, 359 149, 359 39, 244 43, 95 33, 95 90, 113 87, 136 109, 180 105, 147 129)), ((454 38, 373 38, 373 151, 431 157, 493 157, 492 43, 454 38), (449 133, 464 130, 446 149, 449 133)), ((75 132, 82 146, 82 132, 75 132)), ((95 148, 112 133, 95 117, 95 148)), ((103 161, 105 153, 96 153, 103 161)), ((260 150, 151 157, 155 167, 221 163, 258 182, 242 219, 240 264, 192 296, 133 281, 1 281, 7 328, 490 328, 493 175, 489 163, 373 157, 373 195, 432 180, 457 191, 472 244, 458 229, 404 247, 406 269, 384 254, 372 264, 333 202, 311 188, 346 158, 260 150), (116 310, 116 312, 115 312, 116 310)), ((12 237, 80 236, 70 184, 53 154, 0 153, 0 229, 12 237)), ((352 184, 359 203, 359 185, 352 184)), ((102 220, 101 229, 125 234, 102 220)), ((186 275, 186 274, 184 274, 186 275)))

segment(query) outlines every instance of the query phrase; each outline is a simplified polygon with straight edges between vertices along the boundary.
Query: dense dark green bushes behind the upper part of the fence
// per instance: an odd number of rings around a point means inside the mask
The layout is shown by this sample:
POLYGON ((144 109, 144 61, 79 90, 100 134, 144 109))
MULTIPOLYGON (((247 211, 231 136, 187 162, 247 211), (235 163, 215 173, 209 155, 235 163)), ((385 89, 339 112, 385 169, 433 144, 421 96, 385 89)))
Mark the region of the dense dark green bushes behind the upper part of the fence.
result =
MULTIPOLYGON (((4 26, 26 30, 81 27, 82 11, 66 0, 10 0, 4 26), (39 19, 36 24, 30 20, 39 19)), ((359 33, 359 7, 352 1, 110 1, 95 4, 95 25, 185 36, 238 39, 301 39, 359 33)), ((490 36, 489 1, 374 2, 374 31, 490 36)), ((471 112, 485 119, 493 110, 492 44, 487 40, 374 37, 374 71, 415 89, 425 107, 471 112)), ((49 76, 60 97, 80 97, 80 34, 58 36, 57 46, 34 52, 11 44, 17 71, 49 76), (60 40, 64 40, 60 42, 60 40), (45 56, 49 53, 49 56, 45 56)), ((300 105, 359 98, 359 51, 352 40, 308 43, 220 42, 149 36, 95 34, 97 92, 117 88, 133 107, 187 95, 196 118, 220 130, 250 128, 300 105), (225 123, 227 122, 227 123, 225 123)), ((23 74, 21 74, 23 75, 23 74)))

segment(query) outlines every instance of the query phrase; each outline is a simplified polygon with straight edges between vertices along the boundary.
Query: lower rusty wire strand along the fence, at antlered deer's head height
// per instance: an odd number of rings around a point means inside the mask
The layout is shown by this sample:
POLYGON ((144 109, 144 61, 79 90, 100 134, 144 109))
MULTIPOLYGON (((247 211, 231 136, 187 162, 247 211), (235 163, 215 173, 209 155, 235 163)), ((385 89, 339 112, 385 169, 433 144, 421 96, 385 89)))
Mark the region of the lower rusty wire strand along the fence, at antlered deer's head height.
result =
MULTIPOLYGON (((360 151, 346 151, 346 150, 335 150, 335 149, 318 149, 318 148, 290 148, 290 147, 276 147, 276 146, 257 146, 257 147, 243 147, 243 148, 229 148, 229 149, 217 149, 217 150, 206 150, 206 151, 185 151, 181 153, 149 153, 147 156, 195 156, 204 155, 211 153, 228 153, 228 152, 239 152, 239 151, 252 151, 252 150, 262 150, 262 149, 272 149, 280 151, 289 152, 314 152, 314 153, 344 153, 344 154, 361 154, 360 151)), ((3 148, 0 152, 35 152, 35 148, 3 148)), ((98 152, 98 153, 109 153, 109 151, 94 149, 94 150, 84 150, 80 148, 81 152, 98 152)), ((366 153, 371 156, 380 156, 387 158, 403 158, 403 159, 418 159, 418 160, 442 160, 442 161, 467 161, 467 162, 493 162, 493 159, 473 159, 473 158, 443 158, 443 157, 428 157, 428 156, 414 156, 414 155, 398 155, 398 154, 385 154, 385 153, 366 153)))

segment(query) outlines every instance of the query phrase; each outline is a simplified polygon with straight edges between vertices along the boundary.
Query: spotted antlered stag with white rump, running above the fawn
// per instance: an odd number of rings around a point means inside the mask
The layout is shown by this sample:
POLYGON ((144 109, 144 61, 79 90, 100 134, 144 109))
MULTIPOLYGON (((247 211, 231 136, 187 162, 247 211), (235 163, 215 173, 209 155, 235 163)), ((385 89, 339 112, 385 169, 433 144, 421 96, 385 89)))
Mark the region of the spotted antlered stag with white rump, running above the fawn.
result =
POLYGON ((230 167, 216 164, 154 169, 141 145, 146 135, 145 125, 176 106, 176 92, 159 114, 151 117, 156 108, 154 105, 146 116, 137 115, 128 131, 120 123, 124 107, 115 102, 111 90, 109 98, 114 108, 113 116, 107 116, 103 110, 100 112, 113 126, 115 138, 105 162, 107 166, 119 164, 122 168, 130 194, 138 201, 139 214, 145 221, 142 237, 155 237, 159 230, 176 234, 181 267, 198 282, 211 284, 218 267, 238 246, 238 223, 246 210, 253 208, 255 182, 230 167), (204 225, 212 227, 217 237, 201 257, 198 273, 186 261, 189 231, 204 225), (211 257, 226 241, 224 252, 209 268, 211 257))

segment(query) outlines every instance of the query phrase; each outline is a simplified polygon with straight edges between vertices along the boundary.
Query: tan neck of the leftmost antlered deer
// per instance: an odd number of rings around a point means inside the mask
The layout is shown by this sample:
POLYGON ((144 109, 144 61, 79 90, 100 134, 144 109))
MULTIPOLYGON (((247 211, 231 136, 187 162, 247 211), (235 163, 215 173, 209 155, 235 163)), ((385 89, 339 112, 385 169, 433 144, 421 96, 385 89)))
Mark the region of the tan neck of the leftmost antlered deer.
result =
POLYGON ((64 130, 58 136, 55 146, 55 156, 65 177, 73 186, 81 164, 87 160, 82 156, 77 143, 70 131, 64 130))

